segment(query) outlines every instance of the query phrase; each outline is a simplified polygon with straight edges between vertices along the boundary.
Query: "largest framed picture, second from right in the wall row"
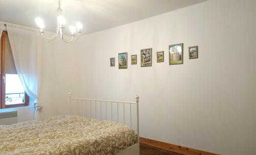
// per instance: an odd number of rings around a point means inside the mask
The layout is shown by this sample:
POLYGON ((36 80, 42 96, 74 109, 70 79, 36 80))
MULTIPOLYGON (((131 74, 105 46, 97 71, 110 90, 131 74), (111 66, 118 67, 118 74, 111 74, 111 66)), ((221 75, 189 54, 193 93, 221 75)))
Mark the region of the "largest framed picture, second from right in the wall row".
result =
POLYGON ((169 45, 169 65, 183 64, 183 43, 169 45))

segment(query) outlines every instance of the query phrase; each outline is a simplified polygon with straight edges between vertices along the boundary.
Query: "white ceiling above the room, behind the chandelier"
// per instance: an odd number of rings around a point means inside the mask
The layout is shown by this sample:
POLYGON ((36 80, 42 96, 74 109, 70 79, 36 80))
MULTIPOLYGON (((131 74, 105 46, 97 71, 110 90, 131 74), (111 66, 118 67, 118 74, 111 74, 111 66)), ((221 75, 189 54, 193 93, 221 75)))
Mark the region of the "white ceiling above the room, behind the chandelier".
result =
MULTIPOLYGON (((67 25, 80 21, 83 34, 101 31, 155 16, 206 0, 62 0, 67 25)), ((0 0, 0 21, 36 28, 35 17, 44 19, 54 32, 57 0, 0 0)))

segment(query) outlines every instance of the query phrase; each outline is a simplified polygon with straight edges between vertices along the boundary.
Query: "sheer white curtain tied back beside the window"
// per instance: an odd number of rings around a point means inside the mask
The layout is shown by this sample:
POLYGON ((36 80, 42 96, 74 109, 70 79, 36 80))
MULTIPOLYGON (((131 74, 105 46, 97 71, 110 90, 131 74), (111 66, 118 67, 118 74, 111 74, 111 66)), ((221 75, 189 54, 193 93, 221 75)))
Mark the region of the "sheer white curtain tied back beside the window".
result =
POLYGON ((35 119, 38 118, 38 71, 37 71, 37 33, 7 25, 14 64, 20 81, 29 97, 35 98, 35 119))

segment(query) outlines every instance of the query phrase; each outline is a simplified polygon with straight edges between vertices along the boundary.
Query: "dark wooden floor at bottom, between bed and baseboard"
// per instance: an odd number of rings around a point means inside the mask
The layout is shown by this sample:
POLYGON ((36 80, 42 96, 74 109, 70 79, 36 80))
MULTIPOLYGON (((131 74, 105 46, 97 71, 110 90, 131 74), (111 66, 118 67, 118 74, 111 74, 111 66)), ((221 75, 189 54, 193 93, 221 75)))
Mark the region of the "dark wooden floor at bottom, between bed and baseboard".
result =
POLYGON ((140 155, 182 155, 140 143, 140 155))

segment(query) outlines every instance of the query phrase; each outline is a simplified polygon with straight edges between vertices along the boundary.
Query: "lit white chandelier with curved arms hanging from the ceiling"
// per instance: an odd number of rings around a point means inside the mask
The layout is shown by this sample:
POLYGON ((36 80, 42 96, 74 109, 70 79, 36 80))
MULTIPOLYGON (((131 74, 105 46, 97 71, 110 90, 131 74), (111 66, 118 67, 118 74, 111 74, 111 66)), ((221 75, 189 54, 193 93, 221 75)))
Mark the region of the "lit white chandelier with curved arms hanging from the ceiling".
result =
POLYGON ((42 36, 42 38, 45 40, 45 41, 52 41, 54 40, 58 34, 60 34, 60 38, 67 42, 67 43, 71 43, 73 41, 76 41, 80 34, 81 34, 81 29, 82 29, 82 24, 81 22, 76 22, 76 27, 74 25, 71 25, 69 27, 70 29, 70 32, 71 32, 71 36, 67 36, 65 35, 64 33, 64 29, 65 29, 65 23, 66 23, 66 19, 61 15, 61 8, 60 8, 60 0, 58 0, 58 9, 57 9, 57 13, 58 13, 58 17, 57 17, 57 30, 55 32, 55 34, 51 37, 48 37, 48 36, 45 36, 45 33, 44 33, 44 28, 45 28, 45 23, 44 21, 40 18, 40 17, 37 17, 35 18, 35 22, 39 28, 39 33, 40 35, 42 36), (76 29, 77 29, 77 33, 78 35, 75 36, 74 33, 76 32, 76 29))

